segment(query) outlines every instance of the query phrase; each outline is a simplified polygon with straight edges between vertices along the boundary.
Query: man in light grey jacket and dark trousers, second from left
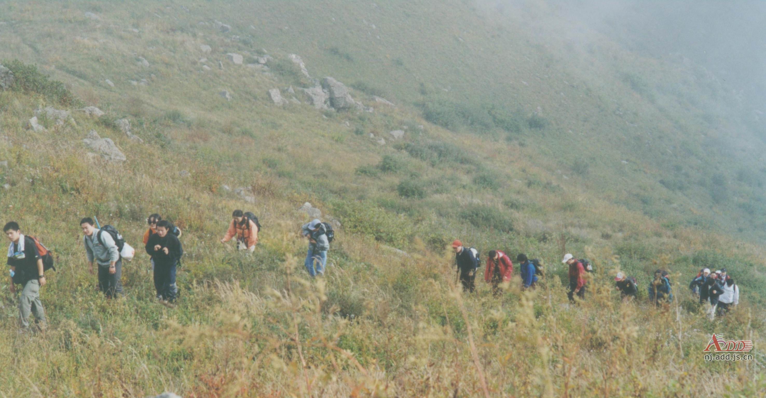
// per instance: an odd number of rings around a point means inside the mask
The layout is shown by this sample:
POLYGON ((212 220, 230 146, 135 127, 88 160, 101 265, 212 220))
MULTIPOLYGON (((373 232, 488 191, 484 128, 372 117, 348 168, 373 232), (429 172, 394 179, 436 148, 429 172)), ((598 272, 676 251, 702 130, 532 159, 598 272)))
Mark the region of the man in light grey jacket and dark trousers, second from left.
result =
POLYGON ((85 251, 90 263, 90 273, 93 273, 93 261, 98 264, 98 288, 106 298, 115 298, 123 294, 123 259, 119 256, 117 244, 109 233, 93 227, 93 219, 85 217, 80 220, 83 229, 85 251))

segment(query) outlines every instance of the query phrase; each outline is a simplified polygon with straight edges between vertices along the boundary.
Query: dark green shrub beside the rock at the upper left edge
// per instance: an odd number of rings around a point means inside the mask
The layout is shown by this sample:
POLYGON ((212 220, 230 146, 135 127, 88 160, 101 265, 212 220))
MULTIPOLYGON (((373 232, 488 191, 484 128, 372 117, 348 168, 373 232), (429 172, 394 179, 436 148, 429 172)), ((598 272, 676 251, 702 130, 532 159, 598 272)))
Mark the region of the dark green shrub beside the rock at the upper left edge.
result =
POLYGON ((36 65, 24 64, 20 60, 2 62, 13 73, 11 90, 23 93, 38 93, 55 103, 65 106, 80 106, 81 101, 67 90, 64 83, 51 80, 38 70, 36 65))

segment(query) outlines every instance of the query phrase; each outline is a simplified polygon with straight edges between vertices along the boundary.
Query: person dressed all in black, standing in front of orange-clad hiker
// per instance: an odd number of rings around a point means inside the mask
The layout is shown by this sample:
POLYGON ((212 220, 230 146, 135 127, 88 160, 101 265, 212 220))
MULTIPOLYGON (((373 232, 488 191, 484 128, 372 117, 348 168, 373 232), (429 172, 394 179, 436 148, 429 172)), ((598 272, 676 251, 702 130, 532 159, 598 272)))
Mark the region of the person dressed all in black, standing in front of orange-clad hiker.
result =
POLYGON ((172 232, 168 220, 157 222, 156 233, 146 242, 146 253, 154 261, 154 288, 157 298, 175 302, 178 286, 175 285, 175 267, 184 254, 181 241, 172 232))

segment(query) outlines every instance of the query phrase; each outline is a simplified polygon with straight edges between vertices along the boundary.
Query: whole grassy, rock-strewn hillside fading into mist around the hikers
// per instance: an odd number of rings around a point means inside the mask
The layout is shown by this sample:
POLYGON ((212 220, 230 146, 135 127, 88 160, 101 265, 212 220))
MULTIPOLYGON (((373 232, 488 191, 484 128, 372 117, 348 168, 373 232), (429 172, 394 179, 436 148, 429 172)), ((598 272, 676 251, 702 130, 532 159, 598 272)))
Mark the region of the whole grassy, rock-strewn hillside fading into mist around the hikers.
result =
POLYGON ((726 38, 698 57, 679 31, 710 7, 671 28, 683 8, 638 2, 0 3, 0 208, 59 269, 45 335, 16 334, 3 296, 0 393, 762 393, 763 354, 701 352, 712 333, 758 349, 766 319, 760 60, 726 38), (252 256, 219 243, 234 209, 264 225, 252 256), (316 211, 338 238, 313 280, 316 211), (105 301, 77 221, 140 249, 155 212, 185 231, 178 304, 155 301, 145 253, 105 301), (516 271, 493 298, 480 274, 461 295, 456 238, 543 259, 544 282, 516 271), (596 266, 577 306, 568 252, 596 266), (741 285, 732 315, 702 315, 702 267, 741 285))

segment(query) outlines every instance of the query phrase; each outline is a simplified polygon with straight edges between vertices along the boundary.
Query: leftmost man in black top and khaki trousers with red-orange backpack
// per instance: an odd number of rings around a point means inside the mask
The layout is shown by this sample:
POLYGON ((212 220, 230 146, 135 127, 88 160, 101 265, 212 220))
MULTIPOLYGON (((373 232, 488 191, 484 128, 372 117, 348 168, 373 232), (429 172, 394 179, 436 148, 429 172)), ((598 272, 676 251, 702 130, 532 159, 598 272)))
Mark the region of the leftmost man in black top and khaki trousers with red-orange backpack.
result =
POLYGON ((40 287, 45 285, 43 259, 38 247, 30 237, 21 233, 18 223, 5 224, 3 232, 11 244, 8 246, 8 266, 11 267, 11 294, 16 294, 16 284, 22 286, 18 298, 18 319, 22 330, 29 329, 29 315, 40 330, 45 329, 45 310, 40 301, 40 287))

